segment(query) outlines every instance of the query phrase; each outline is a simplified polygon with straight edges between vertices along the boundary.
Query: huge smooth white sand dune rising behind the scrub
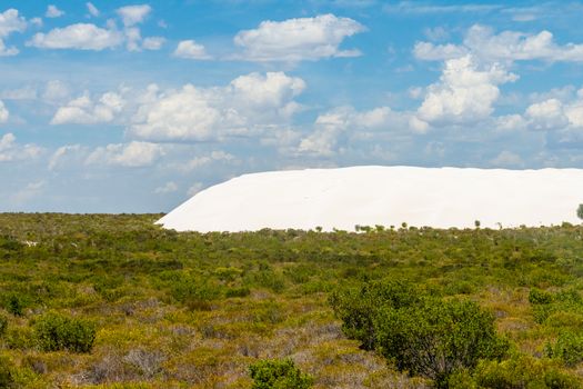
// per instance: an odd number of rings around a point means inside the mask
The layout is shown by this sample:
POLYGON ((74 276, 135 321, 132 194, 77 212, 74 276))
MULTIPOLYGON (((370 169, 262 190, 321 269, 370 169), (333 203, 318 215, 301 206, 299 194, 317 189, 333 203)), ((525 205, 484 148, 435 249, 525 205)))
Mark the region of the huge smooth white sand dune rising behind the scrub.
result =
POLYGON ((583 169, 352 167, 244 174, 158 221, 178 231, 577 223, 583 169))

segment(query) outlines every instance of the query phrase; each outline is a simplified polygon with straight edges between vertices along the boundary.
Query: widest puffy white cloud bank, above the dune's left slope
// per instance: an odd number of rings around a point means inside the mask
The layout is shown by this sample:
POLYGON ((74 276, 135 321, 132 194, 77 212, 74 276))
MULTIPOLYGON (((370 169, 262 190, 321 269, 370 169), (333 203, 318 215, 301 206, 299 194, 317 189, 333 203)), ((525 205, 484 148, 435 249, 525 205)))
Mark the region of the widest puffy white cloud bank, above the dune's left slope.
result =
POLYGON ((301 106, 293 99, 305 83, 283 72, 250 73, 227 87, 185 84, 160 92, 149 88, 129 128, 147 140, 220 140, 250 136, 289 120, 301 106))

